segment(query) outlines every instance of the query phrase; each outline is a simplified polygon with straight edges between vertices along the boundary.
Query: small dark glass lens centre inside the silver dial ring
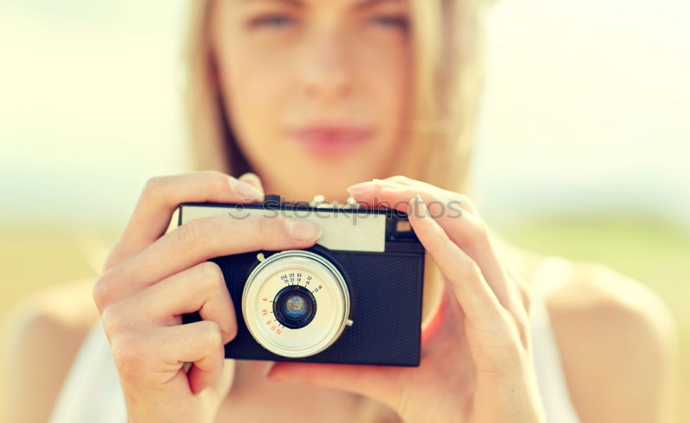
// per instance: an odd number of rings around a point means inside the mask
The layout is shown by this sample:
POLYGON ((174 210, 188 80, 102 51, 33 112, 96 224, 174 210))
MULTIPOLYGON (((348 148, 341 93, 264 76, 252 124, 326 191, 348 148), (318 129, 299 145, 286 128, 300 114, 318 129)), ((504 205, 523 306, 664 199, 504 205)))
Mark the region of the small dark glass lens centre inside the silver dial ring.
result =
POLYGON ((275 295, 273 314, 286 328, 304 328, 316 314, 316 299, 304 286, 286 286, 275 295))

